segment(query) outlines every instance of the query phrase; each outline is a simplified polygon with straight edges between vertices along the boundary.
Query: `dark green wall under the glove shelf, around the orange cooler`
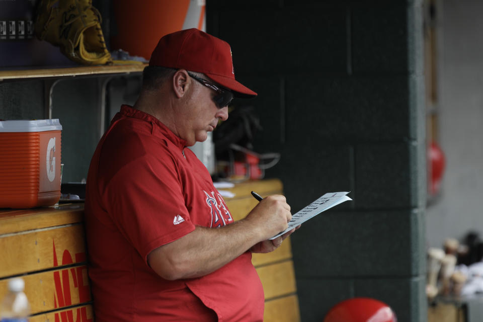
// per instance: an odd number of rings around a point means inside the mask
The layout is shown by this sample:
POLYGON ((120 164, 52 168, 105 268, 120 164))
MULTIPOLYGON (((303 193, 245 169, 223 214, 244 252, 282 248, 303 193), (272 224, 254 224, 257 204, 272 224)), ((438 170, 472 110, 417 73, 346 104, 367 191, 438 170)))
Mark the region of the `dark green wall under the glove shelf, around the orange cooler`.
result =
MULTIPOLYGON (((62 125, 62 182, 87 178, 99 141, 99 85, 95 78, 62 79, 54 87, 52 118, 62 125)), ((0 82, 0 120, 45 118, 43 81, 0 82)))

